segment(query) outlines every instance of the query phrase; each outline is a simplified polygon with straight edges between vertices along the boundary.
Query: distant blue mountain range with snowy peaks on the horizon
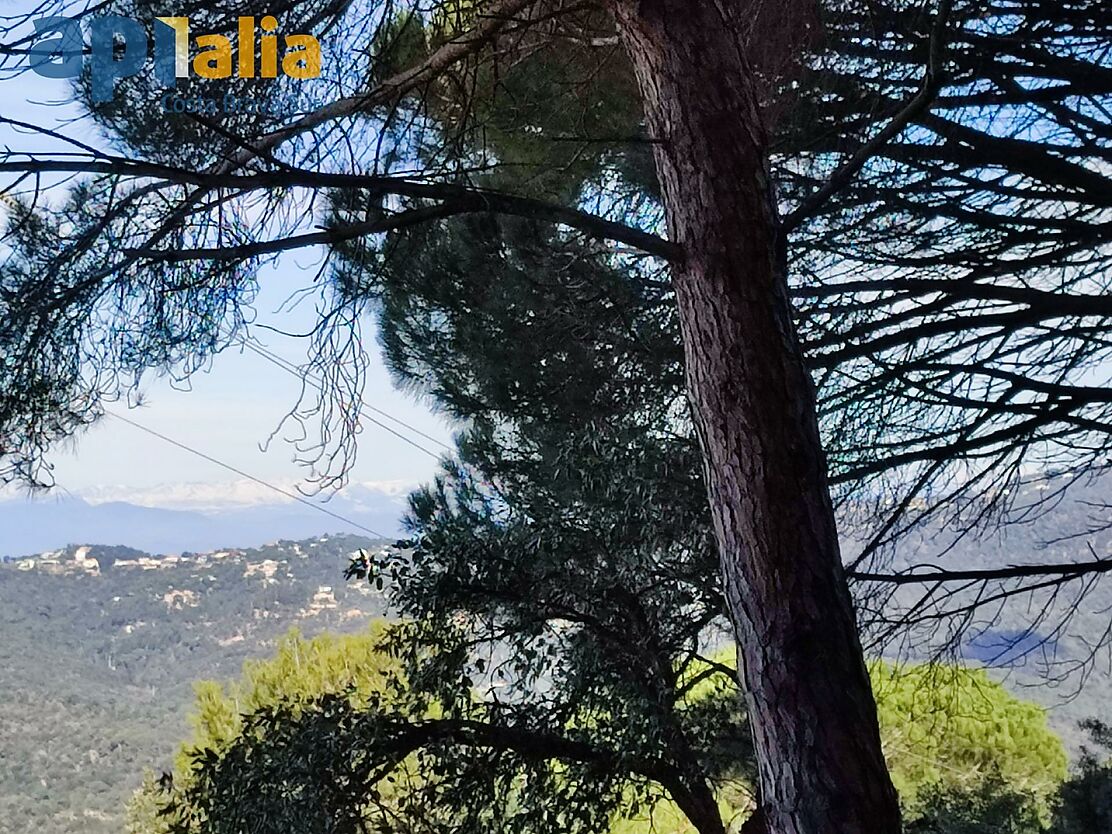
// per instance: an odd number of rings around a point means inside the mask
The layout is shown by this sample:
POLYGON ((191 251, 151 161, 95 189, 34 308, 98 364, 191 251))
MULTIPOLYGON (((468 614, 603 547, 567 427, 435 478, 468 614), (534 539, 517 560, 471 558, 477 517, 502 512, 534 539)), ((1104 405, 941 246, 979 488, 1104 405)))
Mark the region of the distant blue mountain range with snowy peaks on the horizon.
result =
POLYGON ((168 485, 146 492, 100 488, 82 495, 37 498, 9 496, 0 499, 0 557, 71 544, 123 545, 172 554, 329 533, 390 538, 400 533, 405 496, 404 485, 357 484, 328 502, 315 499, 317 509, 250 481, 168 485))

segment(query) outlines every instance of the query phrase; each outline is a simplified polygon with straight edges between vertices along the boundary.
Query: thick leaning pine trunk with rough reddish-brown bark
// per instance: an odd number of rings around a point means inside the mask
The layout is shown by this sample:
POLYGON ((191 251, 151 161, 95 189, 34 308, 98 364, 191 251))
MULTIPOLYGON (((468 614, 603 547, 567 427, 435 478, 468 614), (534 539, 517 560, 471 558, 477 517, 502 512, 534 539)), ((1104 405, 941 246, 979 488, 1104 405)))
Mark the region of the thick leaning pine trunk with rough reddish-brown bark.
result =
MULTIPOLYGON (((612 0, 657 140, 669 235, 685 254, 674 284, 687 387, 764 825, 770 834, 896 834, 745 53, 746 27, 766 4, 612 0)), ((783 3, 771 6, 783 16, 783 3)))

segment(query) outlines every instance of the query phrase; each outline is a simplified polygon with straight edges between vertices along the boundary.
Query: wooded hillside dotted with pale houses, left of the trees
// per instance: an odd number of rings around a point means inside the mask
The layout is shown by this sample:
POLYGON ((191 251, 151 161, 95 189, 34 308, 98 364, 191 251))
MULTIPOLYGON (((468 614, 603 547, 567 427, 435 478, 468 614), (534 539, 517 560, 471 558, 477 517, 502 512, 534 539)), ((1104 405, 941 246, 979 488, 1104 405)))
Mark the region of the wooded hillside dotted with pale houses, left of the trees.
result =
POLYGON ((69 547, 0 565, 0 831, 118 834, 145 768, 187 734, 192 684, 238 676, 291 627, 366 627, 354 537, 150 557, 69 547))

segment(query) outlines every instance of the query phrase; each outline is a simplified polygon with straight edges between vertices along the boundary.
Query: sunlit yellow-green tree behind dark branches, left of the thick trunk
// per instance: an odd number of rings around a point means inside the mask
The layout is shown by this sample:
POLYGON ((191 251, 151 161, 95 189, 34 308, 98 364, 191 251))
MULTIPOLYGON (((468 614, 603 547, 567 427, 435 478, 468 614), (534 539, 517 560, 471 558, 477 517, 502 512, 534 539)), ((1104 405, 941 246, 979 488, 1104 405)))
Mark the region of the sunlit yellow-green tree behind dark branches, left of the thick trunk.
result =
MULTIPOLYGON (((275 656, 246 664, 239 682, 199 684, 193 736, 173 773, 161 782, 148 777, 132 800, 131 831, 235 831, 249 818, 267 831, 361 825, 416 832, 480 823, 492 831, 576 830, 644 806, 646 777, 683 788, 672 762, 604 746, 615 719, 625 716, 584 704, 565 715, 563 727, 526 732, 499 721, 470 692, 463 691, 459 703, 414 697, 391 655, 396 648, 384 625, 311 641, 291 633, 275 656), (488 749, 510 758, 492 759, 488 749), (228 776, 220 771, 236 768, 255 774, 259 795, 234 797, 221 812, 228 776), (504 771, 505 782, 492 785, 492 771, 504 771), (542 784, 523 792, 524 778, 542 784), (563 822, 550 814, 554 804, 564 810, 563 822)), ((708 684, 698 683, 705 695, 708 684)), ((438 686, 447 693, 443 678, 438 686)), ((714 754, 736 770, 748 757, 738 752, 746 742, 723 725, 724 717, 738 721, 736 697, 706 702, 702 695, 695 703, 677 693, 677 712, 693 727, 713 726, 717 738, 734 737, 714 754)))

